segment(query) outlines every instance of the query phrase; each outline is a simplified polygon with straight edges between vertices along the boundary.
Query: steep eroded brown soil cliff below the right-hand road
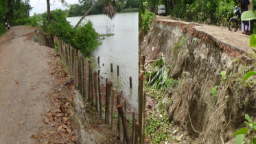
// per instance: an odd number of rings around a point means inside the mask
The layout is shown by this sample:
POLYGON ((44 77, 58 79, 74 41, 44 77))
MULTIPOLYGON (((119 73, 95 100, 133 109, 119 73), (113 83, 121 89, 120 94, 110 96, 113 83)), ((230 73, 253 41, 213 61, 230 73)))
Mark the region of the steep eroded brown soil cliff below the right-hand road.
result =
POLYGON ((180 79, 163 99, 169 120, 189 132, 194 143, 232 143, 245 113, 256 116, 255 84, 250 89, 241 78, 255 69, 255 60, 194 25, 155 21, 141 49, 147 60, 163 53, 170 77, 180 79), (215 86, 218 94, 212 95, 215 86))

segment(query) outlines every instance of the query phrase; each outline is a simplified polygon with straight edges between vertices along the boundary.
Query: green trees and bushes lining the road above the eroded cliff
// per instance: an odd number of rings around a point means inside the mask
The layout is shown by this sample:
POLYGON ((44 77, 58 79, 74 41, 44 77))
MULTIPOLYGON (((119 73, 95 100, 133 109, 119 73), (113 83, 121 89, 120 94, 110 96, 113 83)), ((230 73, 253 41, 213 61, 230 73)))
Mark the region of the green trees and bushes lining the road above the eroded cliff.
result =
MULTIPOLYGON (((158 5, 165 5, 167 15, 185 21, 198 21, 212 25, 227 25, 238 0, 139 0, 141 14, 150 10, 156 14, 158 5)), ((256 1, 253 0, 256 10, 256 1)))

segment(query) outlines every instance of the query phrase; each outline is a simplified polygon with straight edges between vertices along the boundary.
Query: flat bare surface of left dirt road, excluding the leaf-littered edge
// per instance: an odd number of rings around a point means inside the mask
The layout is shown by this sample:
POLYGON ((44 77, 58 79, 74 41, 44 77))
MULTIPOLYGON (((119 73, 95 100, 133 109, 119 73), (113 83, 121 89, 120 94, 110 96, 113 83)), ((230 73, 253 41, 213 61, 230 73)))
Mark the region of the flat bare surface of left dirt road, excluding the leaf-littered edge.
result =
POLYGON ((47 61, 54 49, 27 40, 34 30, 12 27, 0 38, 0 144, 37 143, 30 137, 47 126, 41 121, 51 108, 47 61))

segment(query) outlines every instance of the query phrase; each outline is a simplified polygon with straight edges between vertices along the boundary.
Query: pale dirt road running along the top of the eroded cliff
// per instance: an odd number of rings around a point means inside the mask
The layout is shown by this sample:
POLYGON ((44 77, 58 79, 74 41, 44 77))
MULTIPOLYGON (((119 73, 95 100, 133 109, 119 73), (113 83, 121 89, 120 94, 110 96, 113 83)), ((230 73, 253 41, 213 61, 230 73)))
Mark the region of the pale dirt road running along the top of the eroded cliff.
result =
MULTIPOLYGON (((170 22, 179 22, 185 24, 191 24, 185 21, 177 21, 167 16, 156 16, 156 21, 170 21, 170 22)), ((252 48, 250 47, 250 36, 242 34, 241 30, 237 32, 230 32, 228 27, 218 27, 215 25, 204 25, 195 23, 196 26, 194 28, 198 31, 205 32, 213 38, 217 38, 222 41, 222 43, 226 43, 231 45, 231 47, 235 47, 237 49, 241 49, 242 51, 246 51, 248 53, 254 53, 252 48)))

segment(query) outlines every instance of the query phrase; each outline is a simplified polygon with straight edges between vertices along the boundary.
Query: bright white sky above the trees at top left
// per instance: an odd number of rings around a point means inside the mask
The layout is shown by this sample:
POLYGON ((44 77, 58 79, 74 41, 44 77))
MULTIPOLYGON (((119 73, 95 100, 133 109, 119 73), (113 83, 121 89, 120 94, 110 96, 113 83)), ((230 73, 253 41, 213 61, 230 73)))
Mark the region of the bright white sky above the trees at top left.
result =
MULTIPOLYGON (((78 0, 66 0, 66 2, 70 4, 78 3, 78 0)), ((58 0, 50 0, 51 3, 51 10, 56 10, 56 9, 61 9, 61 10, 66 10, 68 9, 67 7, 63 6, 62 3, 60 3, 58 0)), ((41 14, 43 12, 47 11, 47 4, 46 0, 30 0, 30 5, 34 7, 30 11, 30 16, 36 14, 41 14)))

